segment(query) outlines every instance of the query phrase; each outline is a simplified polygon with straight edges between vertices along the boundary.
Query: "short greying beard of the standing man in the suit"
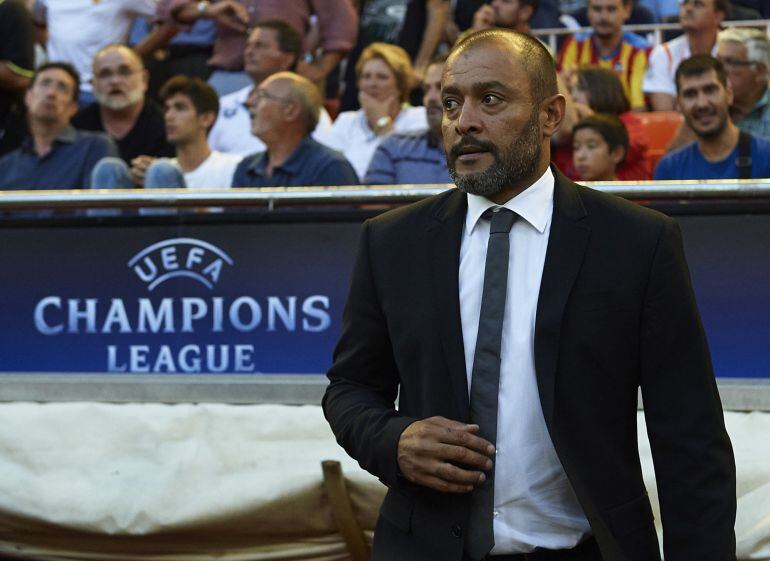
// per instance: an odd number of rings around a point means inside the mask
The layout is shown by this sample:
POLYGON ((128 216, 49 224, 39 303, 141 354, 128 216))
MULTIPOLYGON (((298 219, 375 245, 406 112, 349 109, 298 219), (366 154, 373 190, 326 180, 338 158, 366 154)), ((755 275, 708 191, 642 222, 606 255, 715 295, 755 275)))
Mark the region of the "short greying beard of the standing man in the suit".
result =
POLYGON ((540 128, 538 113, 532 113, 529 121, 521 131, 514 136, 513 141, 501 153, 500 148, 473 137, 464 137, 455 144, 447 154, 447 165, 452 181, 460 191, 471 195, 491 197, 497 195, 522 180, 532 177, 540 161, 540 128), (460 149, 465 146, 478 146, 487 150, 494 161, 483 171, 457 173, 455 162, 460 155, 460 149))

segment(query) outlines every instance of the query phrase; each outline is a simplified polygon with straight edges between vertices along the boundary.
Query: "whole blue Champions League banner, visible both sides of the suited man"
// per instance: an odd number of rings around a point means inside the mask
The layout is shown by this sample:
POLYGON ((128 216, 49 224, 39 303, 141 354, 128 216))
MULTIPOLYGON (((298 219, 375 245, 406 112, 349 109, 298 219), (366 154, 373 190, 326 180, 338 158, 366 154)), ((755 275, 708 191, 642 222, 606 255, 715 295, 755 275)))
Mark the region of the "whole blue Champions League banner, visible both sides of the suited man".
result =
MULTIPOLYGON (((770 215, 678 216, 723 378, 770 378, 770 215)), ((321 374, 359 224, 0 231, 0 372, 321 374)))

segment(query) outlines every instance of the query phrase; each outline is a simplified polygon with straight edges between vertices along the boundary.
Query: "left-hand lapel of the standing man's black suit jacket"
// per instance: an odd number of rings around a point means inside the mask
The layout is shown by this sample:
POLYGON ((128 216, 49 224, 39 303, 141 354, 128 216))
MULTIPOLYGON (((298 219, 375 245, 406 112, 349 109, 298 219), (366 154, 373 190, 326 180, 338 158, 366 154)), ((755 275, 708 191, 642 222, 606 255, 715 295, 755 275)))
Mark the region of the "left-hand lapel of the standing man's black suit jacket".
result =
POLYGON ((434 313, 441 344, 449 369, 449 381, 460 413, 458 420, 467 420, 468 380, 465 373, 465 352, 460 320, 460 243, 468 208, 464 193, 454 190, 444 201, 427 228, 428 260, 435 295, 434 313))

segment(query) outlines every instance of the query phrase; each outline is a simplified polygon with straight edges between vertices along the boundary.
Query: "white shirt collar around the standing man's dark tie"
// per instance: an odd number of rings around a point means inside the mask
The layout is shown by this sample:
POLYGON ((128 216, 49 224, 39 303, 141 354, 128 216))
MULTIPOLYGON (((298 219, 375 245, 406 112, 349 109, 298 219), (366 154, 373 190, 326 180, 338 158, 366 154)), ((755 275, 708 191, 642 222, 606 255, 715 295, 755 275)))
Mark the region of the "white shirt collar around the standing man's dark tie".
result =
MULTIPOLYGON (((506 202, 508 208, 526 220, 541 234, 548 225, 548 218, 553 210, 554 176, 548 167, 545 173, 528 188, 506 202)), ((465 215, 465 233, 470 236, 473 229, 481 219, 481 215, 487 209, 500 206, 486 197, 480 195, 468 195, 468 212, 465 215)))

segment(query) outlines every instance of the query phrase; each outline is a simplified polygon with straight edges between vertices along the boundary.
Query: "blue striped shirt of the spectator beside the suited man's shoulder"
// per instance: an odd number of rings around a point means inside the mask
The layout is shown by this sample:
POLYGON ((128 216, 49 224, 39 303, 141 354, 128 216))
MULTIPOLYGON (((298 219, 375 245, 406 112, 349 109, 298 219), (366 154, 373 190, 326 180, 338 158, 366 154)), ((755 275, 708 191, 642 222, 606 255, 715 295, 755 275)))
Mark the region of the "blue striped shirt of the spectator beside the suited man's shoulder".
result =
POLYGON ((444 149, 430 131, 388 136, 374 152, 364 178, 367 185, 450 181, 444 149))

